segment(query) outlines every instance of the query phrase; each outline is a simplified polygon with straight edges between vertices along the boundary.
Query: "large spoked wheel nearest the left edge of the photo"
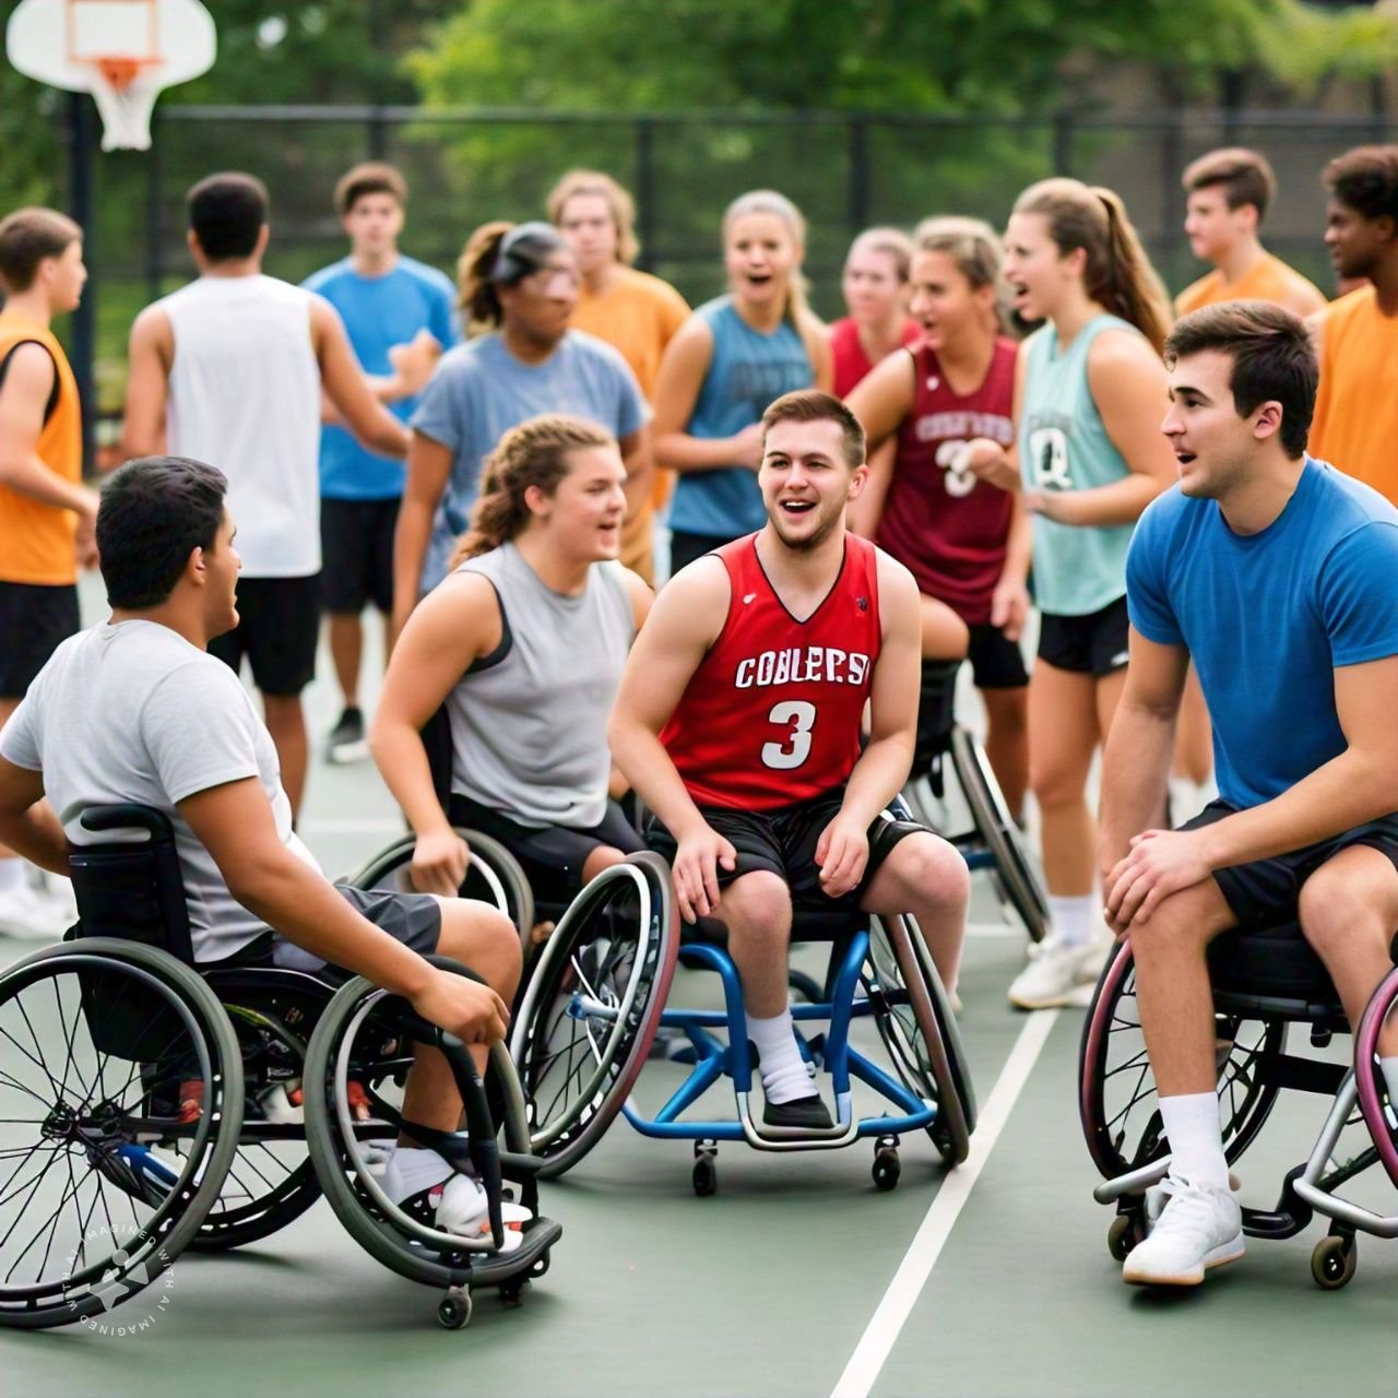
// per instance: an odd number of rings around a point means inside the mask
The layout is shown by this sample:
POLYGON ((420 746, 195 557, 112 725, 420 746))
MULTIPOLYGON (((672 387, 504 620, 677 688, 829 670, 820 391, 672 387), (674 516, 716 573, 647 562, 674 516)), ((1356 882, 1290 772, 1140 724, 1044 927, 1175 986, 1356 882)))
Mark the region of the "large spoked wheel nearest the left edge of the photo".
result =
POLYGON ((0 1325, 116 1331, 238 1151, 232 1025, 173 956, 94 937, 0 974, 0 1325))

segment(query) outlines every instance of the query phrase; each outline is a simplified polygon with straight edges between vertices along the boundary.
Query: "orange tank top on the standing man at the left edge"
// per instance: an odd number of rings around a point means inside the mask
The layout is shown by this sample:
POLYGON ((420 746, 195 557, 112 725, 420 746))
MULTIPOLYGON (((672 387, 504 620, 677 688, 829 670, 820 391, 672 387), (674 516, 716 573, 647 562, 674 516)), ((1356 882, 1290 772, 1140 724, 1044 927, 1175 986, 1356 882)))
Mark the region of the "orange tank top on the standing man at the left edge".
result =
MULTIPOLYGON (((63 345, 46 326, 0 312, 0 363, 25 341, 43 345, 59 373, 53 411, 39 432, 41 460, 74 485, 82 481, 82 414, 78 384, 63 345)), ((0 485, 0 582, 62 587, 77 582, 73 540, 78 519, 71 510, 41 505, 0 485)))

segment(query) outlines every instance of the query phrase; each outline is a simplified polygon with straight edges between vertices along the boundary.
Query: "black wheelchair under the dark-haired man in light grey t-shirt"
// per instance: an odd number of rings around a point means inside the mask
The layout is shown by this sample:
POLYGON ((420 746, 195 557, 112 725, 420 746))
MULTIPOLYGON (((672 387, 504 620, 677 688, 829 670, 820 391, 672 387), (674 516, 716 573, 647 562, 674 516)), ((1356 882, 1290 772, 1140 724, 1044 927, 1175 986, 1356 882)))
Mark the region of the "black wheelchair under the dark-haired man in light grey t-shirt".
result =
POLYGON ((322 1191, 380 1262, 446 1288, 443 1325, 470 1320, 473 1288, 517 1302, 562 1230, 538 1215, 541 1162, 505 1047, 482 1086, 460 1040, 363 979, 336 988, 274 967, 200 972, 169 821, 113 805, 81 823, 106 839, 70 849, 71 939, 0 973, 0 1325, 95 1321, 185 1248, 263 1239, 322 1191), (403 1118, 414 1043, 446 1055, 466 1137, 403 1118), (489 1239, 439 1232, 389 1201, 373 1142, 401 1128, 475 1170, 489 1239), (533 1215, 513 1251, 506 1181, 533 1215))

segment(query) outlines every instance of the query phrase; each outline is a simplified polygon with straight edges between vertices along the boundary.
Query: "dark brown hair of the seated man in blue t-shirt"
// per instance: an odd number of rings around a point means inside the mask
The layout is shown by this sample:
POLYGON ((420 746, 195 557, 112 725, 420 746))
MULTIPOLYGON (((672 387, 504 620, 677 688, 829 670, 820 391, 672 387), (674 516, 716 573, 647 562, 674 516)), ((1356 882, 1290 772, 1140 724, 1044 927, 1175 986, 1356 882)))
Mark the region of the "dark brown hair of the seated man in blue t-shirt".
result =
POLYGON ((1240 418, 1264 403, 1282 405, 1281 440, 1290 457, 1306 450, 1320 365, 1300 316, 1269 301, 1225 301, 1176 322, 1165 341, 1165 363, 1218 350, 1233 361, 1229 387, 1240 418))

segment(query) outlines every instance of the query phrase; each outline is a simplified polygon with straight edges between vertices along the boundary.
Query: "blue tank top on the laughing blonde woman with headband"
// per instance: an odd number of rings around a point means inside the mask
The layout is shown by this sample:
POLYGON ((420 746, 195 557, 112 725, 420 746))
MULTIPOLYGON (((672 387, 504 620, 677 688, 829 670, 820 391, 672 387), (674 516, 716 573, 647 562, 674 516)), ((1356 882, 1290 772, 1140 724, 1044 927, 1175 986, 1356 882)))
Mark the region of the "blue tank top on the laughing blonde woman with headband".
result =
MULTIPOLYGON (((762 421, 774 398, 815 382, 805 341, 790 320, 770 334, 754 330, 720 296, 696 312, 713 333, 713 358, 685 431, 696 438, 731 438, 762 421)), ((679 477, 670 502, 670 527, 712 538, 738 538, 762 528, 756 473, 745 466, 689 471, 679 477)))

